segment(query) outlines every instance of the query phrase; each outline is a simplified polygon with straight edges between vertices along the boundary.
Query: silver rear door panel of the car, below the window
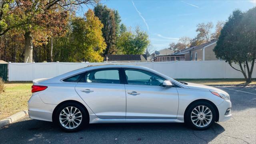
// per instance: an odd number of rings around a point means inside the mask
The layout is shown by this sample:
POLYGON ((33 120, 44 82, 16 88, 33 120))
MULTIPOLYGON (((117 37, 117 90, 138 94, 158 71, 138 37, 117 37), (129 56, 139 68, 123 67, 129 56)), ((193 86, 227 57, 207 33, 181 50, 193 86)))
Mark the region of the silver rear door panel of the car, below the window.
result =
POLYGON ((125 118, 124 84, 78 83, 76 92, 99 118, 125 118))

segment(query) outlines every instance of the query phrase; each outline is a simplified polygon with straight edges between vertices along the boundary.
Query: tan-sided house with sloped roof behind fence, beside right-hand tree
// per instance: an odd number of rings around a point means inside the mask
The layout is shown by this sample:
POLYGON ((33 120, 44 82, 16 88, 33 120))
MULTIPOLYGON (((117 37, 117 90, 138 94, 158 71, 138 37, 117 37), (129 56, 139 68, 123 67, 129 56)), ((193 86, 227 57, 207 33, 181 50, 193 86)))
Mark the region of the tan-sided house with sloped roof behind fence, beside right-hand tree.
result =
POLYGON ((183 54, 186 61, 218 60, 218 58, 215 56, 215 53, 213 52, 213 49, 216 46, 216 42, 217 40, 212 40, 210 42, 200 44, 199 46, 193 46, 184 50, 180 50, 179 52, 175 52, 172 55, 175 56, 183 54))

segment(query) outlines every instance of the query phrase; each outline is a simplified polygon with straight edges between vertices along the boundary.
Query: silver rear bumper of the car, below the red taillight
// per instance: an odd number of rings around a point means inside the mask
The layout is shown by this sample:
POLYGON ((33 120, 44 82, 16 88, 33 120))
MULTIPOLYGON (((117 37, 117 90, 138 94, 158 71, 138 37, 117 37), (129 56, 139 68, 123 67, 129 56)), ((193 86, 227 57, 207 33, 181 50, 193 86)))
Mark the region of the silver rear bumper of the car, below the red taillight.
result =
POLYGON ((28 115, 32 119, 52 122, 52 112, 56 104, 45 104, 38 94, 34 94, 28 100, 28 115))

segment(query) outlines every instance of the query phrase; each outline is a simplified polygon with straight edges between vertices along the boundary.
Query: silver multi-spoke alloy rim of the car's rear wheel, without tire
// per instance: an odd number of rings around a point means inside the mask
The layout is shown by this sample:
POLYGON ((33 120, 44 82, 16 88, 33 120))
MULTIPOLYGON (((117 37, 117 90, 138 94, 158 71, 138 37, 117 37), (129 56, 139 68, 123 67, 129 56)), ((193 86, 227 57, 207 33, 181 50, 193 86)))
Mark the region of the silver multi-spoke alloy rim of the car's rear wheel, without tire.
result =
POLYGON ((67 129, 74 129, 82 122, 82 113, 74 106, 64 108, 59 115, 60 124, 67 129))

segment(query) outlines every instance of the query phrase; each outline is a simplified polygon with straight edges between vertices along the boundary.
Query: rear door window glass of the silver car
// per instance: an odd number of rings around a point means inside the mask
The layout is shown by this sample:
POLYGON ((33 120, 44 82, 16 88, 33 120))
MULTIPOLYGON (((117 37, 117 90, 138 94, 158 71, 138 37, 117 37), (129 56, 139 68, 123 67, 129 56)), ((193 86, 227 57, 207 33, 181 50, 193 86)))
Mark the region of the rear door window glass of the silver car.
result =
POLYGON ((120 84, 119 70, 92 70, 85 74, 83 81, 88 83, 120 84))

